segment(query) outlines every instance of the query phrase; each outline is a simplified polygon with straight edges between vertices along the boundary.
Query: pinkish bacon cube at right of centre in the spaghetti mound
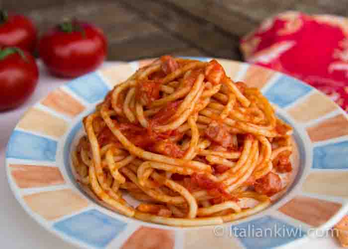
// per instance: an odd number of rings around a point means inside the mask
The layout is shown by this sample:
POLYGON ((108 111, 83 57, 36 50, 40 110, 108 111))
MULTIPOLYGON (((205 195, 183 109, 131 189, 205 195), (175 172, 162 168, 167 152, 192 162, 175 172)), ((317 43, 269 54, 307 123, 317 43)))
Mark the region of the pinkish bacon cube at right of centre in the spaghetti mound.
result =
POLYGON ((208 128, 205 130, 205 135, 215 143, 222 147, 229 147, 232 144, 232 135, 228 132, 228 128, 225 124, 212 121, 208 128))

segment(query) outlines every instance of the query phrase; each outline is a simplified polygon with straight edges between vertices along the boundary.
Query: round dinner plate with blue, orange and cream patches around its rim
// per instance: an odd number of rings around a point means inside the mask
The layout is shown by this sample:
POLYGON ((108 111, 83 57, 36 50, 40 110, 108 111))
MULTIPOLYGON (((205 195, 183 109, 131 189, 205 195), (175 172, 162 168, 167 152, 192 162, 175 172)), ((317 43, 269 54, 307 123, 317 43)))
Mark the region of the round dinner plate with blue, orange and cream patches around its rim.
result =
POLYGON ((82 248, 263 249, 304 242, 331 228, 348 211, 347 113, 294 78, 218 61, 233 80, 261 88, 277 115, 294 128, 296 174, 286 193, 266 210, 221 226, 169 227, 117 214, 76 184, 70 152, 81 136, 82 118, 115 84, 150 60, 73 80, 25 113, 8 141, 5 160, 18 202, 40 225, 82 248))

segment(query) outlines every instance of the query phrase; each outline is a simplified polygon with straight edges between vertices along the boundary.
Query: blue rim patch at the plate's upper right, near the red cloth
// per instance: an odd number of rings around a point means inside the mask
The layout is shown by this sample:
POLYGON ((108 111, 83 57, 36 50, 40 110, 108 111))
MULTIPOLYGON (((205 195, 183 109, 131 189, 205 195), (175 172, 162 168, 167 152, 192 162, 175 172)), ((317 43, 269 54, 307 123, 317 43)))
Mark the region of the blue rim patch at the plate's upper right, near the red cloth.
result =
POLYGON ((311 86, 301 83, 292 77, 282 75, 267 89, 264 95, 269 101, 280 107, 285 107, 311 90, 311 86))

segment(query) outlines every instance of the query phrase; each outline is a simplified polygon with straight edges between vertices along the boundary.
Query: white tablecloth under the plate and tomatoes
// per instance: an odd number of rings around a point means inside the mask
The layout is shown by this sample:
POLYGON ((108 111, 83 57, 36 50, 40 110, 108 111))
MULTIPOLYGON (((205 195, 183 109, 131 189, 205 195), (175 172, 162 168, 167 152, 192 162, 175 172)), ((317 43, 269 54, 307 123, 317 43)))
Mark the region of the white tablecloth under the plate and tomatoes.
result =
MULTIPOLYGON (((113 63, 105 63, 107 65, 113 63)), ((41 63, 40 80, 34 94, 21 107, 0 112, 0 165, 4 165, 4 154, 7 140, 23 113, 46 96, 50 91, 59 87, 67 80, 54 78, 47 74, 41 63)), ((106 66, 107 66, 106 65, 106 66)), ((75 249, 74 246, 65 243, 55 235, 46 231, 38 225, 29 215, 21 208, 9 189, 5 168, 0 174, 0 248, 2 249, 75 249)), ((301 245, 302 247, 302 245, 301 245)), ((289 247, 294 248, 294 247, 289 247)), ((296 247, 295 247, 296 248, 296 247)), ((303 245, 306 249, 338 249, 338 244, 331 238, 316 239, 313 242, 303 245)))

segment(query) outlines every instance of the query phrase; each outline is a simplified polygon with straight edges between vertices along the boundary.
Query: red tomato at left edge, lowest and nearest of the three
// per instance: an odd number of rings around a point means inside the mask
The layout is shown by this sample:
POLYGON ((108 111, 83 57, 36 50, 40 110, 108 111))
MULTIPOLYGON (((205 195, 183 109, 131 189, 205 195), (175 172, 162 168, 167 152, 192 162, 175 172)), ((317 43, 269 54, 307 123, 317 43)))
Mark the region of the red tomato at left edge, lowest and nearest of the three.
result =
POLYGON ((0 50, 0 110, 24 103, 33 93, 39 71, 29 52, 8 47, 0 50))

